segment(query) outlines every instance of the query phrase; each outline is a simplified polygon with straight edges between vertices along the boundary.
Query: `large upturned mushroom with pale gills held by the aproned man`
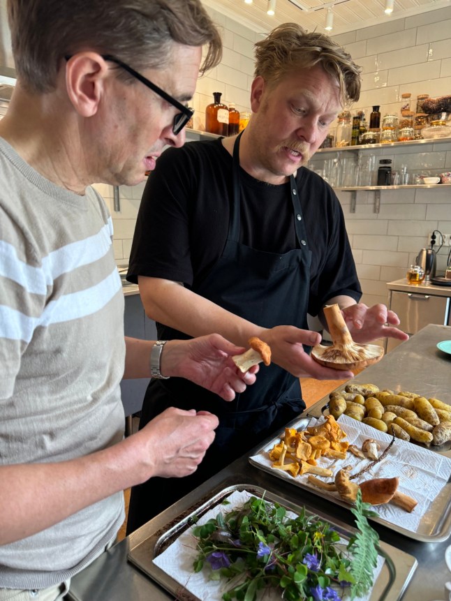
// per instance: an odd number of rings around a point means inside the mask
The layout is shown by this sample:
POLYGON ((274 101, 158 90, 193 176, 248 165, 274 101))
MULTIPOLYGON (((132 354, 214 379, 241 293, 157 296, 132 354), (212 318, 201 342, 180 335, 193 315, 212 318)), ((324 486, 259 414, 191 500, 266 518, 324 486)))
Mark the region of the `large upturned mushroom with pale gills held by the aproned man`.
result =
POLYGON ((353 341, 338 304, 325 306, 324 315, 332 346, 314 346, 311 357, 316 362, 332 369, 362 369, 382 359, 384 351, 381 346, 353 341))

